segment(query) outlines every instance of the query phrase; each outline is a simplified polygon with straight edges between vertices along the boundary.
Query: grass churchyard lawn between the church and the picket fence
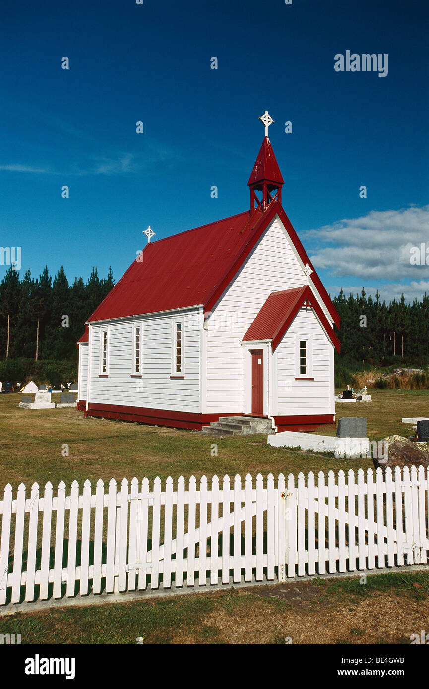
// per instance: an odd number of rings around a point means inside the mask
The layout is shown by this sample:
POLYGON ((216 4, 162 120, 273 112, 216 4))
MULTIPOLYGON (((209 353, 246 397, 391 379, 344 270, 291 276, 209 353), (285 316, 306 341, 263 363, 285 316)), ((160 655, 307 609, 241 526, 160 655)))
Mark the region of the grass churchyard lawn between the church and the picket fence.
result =
MULTIPOLYGON (((372 402, 337 403, 340 416, 365 416, 370 440, 381 440, 392 433, 408 435, 410 427, 402 417, 429 415, 427 390, 373 390, 372 402)), ((59 395, 58 395, 59 397, 59 395)), ((6 483, 14 489, 20 482, 34 481, 54 486, 63 480, 70 485, 76 479, 112 477, 149 480, 169 475, 219 477, 240 473, 275 476, 283 472, 308 473, 367 469, 372 460, 339 460, 310 452, 273 448, 266 435, 211 438, 196 431, 179 431, 139 424, 83 418, 74 409, 30 411, 19 409, 20 393, 0 395, 0 490, 6 483), (211 455, 216 443, 217 456, 211 455), (63 457, 63 444, 69 456, 63 457)), ((55 401, 55 395, 52 395, 55 401)), ((316 431, 335 435, 335 426, 320 426, 316 431)))

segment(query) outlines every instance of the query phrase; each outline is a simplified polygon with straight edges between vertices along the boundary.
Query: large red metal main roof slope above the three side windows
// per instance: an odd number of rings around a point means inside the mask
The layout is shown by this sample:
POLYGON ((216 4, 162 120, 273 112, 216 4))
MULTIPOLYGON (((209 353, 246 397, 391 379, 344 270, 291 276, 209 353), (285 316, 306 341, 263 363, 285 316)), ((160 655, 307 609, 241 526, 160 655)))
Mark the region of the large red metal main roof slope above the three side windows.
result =
POLYGON ((146 245, 89 322, 205 305, 261 217, 246 211, 146 245))

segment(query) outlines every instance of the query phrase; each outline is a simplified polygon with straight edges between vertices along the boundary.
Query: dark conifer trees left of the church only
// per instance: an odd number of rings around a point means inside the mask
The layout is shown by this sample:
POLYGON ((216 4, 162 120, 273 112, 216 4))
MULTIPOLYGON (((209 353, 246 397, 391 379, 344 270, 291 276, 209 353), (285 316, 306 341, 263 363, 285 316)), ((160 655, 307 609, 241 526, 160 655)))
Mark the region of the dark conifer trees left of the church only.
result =
POLYGON ((93 268, 70 285, 63 266, 53 280, 48 266, 35 279, 11 266, 0 283, 0 360, 75 361, 85 322, 113 285, 111 267, 107 278, 93 268))

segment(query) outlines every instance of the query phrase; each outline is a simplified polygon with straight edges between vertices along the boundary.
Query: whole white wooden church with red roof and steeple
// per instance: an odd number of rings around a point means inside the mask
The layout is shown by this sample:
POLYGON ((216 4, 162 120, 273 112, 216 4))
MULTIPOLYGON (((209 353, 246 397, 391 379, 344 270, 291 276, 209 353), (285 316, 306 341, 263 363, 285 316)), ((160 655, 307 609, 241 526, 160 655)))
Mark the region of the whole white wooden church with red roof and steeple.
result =
POLYGON ((92 313, 79 346, 77 409, 201 430, 219 417, 274 431, 335 422, 338 313, 281 206, 265 138, 250 209, 150 241, 92 313))

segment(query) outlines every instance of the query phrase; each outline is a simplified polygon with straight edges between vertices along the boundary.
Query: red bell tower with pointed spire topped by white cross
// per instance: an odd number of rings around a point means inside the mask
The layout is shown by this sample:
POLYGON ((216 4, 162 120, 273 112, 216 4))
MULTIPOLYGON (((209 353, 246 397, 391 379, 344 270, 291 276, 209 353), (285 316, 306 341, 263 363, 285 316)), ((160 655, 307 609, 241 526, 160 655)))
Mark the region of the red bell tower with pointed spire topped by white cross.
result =
POLYGON ((248 181, 251 214, 258 207, 261 207, 262 211, 264 211, 276 199, 281 203, 281 187, 284 184, 276 156, 268 138, 268 127, 274 123, 274 120, 268 114, 268 110, 258 119, 265 125, 265 138, 248 181), (258 196, 256 192, 261 193, 258 196), (275 193, 273 194, 273 192, 275 193))

